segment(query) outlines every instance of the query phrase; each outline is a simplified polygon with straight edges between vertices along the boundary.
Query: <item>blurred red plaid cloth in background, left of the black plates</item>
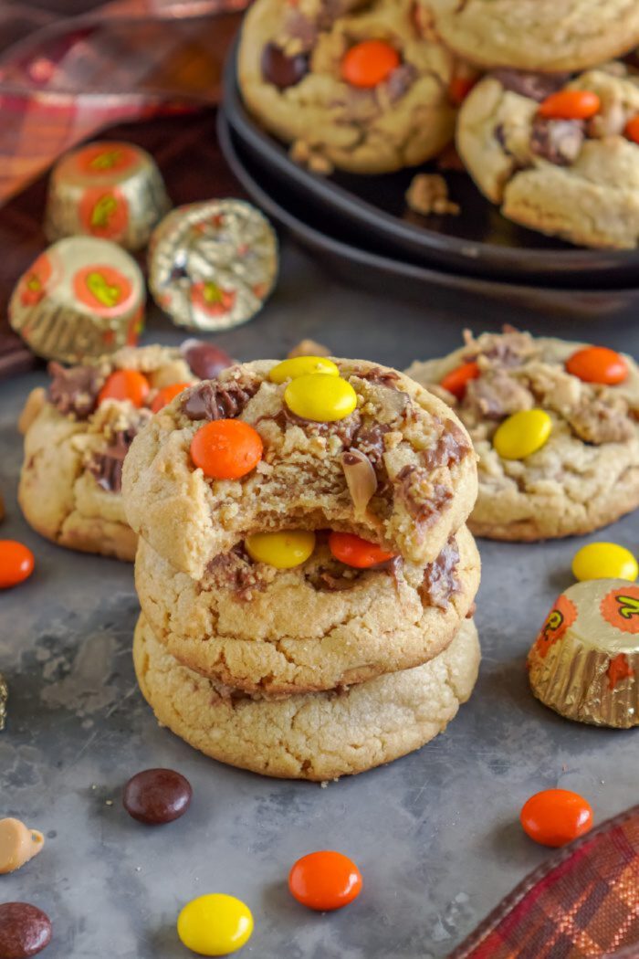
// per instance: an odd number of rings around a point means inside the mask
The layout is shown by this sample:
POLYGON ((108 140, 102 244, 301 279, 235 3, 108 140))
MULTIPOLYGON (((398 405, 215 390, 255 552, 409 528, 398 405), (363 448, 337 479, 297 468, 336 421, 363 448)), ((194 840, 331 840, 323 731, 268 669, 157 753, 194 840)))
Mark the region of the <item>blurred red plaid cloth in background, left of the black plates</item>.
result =
POLYGON ((0 8, 0 204, 105 127, 216 104, 247 0, 94 0, 73 17, 57 2, 0 8))

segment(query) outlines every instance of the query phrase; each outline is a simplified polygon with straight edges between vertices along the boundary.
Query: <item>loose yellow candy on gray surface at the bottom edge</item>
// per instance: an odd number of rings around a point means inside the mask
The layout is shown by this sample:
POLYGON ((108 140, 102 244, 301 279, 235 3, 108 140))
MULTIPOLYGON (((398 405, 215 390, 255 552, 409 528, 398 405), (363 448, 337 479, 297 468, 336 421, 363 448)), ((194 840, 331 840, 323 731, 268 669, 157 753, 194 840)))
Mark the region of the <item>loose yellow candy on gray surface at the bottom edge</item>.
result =
POLYGON ((210 893, 187 902, 177 917, 182 943, 200 956, 227 956, 251 938, 253 916, 235 896, 210 893))

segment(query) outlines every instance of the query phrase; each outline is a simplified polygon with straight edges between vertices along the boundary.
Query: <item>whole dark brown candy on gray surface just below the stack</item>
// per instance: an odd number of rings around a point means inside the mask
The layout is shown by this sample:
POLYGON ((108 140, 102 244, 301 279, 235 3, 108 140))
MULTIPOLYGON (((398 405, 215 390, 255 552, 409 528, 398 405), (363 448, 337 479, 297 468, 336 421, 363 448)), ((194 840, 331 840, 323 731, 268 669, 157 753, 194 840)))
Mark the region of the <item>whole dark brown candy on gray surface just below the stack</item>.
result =
POLYGON ((184 815, 192 796, 189 780, 174 769, 144 769, 126 784, 123 804, 138 822, 162 826, 184 815))

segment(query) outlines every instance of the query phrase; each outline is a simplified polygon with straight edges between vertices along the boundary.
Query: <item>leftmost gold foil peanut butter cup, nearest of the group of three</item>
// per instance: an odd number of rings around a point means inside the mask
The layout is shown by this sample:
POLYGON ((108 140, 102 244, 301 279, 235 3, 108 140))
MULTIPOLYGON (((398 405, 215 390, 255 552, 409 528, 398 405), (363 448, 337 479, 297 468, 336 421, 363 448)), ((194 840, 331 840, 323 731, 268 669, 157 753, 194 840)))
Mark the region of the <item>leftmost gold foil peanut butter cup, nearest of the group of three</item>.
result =
POLYGON ((82 363, 134 346, 146 288, 121 246, 67 237, 41 253, 11 294, 11 327, 38 356, 82 363))

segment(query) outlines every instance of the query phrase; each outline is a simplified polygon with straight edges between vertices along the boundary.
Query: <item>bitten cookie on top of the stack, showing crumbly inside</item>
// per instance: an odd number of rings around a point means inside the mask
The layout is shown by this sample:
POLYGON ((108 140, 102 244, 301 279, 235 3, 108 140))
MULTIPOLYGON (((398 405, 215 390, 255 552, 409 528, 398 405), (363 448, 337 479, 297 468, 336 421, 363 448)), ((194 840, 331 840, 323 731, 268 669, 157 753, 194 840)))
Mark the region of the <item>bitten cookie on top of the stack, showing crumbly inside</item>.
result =
MULTIPOLYGON (((282 529, 353 532, 404 559, 432 562, 463 526, 476 496, 468 433, 437 397, 396 370, 334 360, 354 389, 354 411, 336 422, 301 419, 285 404, 290 381, 275 361, 231 366, 185 390, 136 436, 123 472, 130 525, 195 579, 246 536, 282 529), (239 418, 262 439, 262 460, 241 479, 210 479, 190 447, 203 423, 239 418), (358 508, 343 456, 373 476, 358 508)), ((308 379, 312 379, 309 377, 308 379)))

